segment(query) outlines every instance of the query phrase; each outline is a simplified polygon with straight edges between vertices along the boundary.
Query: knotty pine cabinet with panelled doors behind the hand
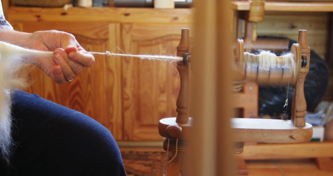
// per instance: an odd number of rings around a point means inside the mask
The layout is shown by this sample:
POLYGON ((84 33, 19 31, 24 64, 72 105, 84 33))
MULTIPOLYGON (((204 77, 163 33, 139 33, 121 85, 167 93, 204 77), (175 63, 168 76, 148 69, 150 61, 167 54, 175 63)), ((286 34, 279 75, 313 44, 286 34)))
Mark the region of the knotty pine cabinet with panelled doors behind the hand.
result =
MULTIPOLYGON (((72 33, 87 51, 175 55, 181 28, 192 23, 192 10, 72 8, 64 12, 12 7, 8 19, 19 31, 72 33)), ((176 63, 103 55, 95 59, 93 67, 63 85, 36 68, 28 92, 87 114, 118 141, 162 141, 159 119, 176 115, 176 63)))

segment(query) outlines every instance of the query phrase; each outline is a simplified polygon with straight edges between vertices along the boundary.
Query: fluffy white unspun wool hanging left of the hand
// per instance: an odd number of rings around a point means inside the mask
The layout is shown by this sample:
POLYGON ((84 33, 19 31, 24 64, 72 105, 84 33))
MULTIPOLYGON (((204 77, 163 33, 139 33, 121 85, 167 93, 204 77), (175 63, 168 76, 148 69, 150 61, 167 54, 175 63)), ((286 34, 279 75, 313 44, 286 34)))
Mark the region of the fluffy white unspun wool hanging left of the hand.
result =
POLYGON ((22 48, 0 41, 0 149, 2 158, 9 163, 11 154, 11 94, 17 87, 25 86, 25 75, 20 69, 36 58, 51 57, 53 52, 22 48))

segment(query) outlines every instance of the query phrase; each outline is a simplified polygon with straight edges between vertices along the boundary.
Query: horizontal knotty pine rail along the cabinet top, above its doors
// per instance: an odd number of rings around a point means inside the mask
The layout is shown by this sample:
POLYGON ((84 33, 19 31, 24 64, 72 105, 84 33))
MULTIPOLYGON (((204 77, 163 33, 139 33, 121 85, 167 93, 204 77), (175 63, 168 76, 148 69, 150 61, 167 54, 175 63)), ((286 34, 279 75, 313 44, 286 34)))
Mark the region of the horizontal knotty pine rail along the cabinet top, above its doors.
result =
POLYGON ((54 22, 124 22, 124 23, 191 23, 193 9, 154 8, 36 8, 10 7, 9 21, 54 21, 54 22), (22 18, 24 16, 24 18, 22 18))

